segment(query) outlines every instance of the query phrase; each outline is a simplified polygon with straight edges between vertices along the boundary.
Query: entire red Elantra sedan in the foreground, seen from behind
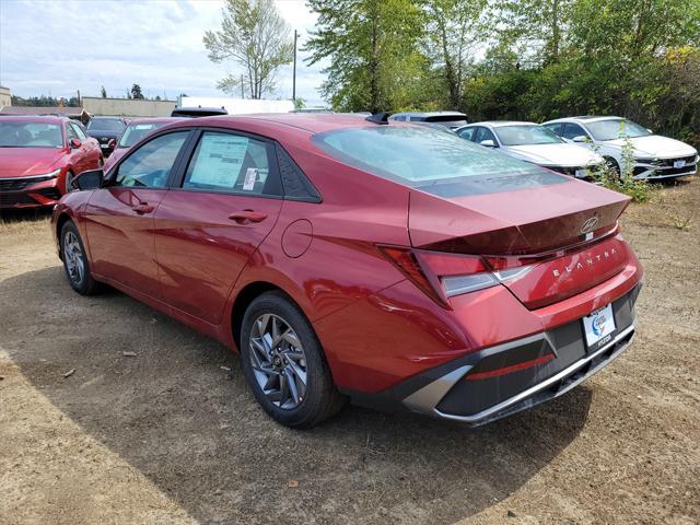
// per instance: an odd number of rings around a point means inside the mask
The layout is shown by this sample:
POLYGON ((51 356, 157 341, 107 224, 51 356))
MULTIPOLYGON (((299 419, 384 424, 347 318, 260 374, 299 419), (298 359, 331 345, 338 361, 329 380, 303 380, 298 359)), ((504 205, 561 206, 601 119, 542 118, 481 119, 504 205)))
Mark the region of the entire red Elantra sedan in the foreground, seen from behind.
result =
POLYGON ((51 223, 71 287, 110 284, 237 349, 290 427, 348 398, 482 424, 569 390, 634 335, 629 199, 447 131, 209 117, 78 184, 51 223))

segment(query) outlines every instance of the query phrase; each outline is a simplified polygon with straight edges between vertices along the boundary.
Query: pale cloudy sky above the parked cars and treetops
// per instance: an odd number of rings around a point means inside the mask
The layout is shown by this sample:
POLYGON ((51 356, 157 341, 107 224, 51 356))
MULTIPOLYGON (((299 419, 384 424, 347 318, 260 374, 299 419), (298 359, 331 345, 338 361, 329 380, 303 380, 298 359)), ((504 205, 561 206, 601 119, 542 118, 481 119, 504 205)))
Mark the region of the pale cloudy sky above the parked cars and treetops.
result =
MULTIPOLYGON (((323 65, 307 66, 301 51, 316 15, 303 0, 276 0, 290 30, 300 34, 296 96, 324 105, 323 65)), ((202 36, 221 25, 222 0, 0 0, 0 85, 19 96, 122 97, 131 84, 144 95, 175 100, 225 96, 217 81, 242 70, 213 63, 202 36)), ((292 66, 277 75, 270 98, 291 98, 292 66)))

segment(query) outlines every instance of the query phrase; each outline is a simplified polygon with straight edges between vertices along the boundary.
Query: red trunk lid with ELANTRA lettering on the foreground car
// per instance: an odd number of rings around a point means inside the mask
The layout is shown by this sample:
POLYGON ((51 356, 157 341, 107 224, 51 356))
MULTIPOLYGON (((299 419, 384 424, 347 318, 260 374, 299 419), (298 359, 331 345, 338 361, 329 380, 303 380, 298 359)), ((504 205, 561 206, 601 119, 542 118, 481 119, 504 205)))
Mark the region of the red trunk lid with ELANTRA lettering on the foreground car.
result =
POLYGON ((480 255, 497 276, 516 272, 501 282, 538 308, 625 268, 627 243, 614 234, 629 201, 579 180, 450 198, 412 190, 409 234, 416 248, 480 255))

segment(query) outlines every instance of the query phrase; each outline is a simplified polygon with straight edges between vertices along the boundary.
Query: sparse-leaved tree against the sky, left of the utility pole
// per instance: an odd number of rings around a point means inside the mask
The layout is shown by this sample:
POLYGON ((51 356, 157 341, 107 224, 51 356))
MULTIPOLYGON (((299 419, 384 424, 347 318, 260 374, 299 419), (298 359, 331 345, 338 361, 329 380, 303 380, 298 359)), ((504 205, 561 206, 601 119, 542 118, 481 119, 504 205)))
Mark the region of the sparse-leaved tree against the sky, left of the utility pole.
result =
POLYGON ((272 93, 279 68, 294 58, 289 25, 272 0, 225 0, 222 15, 221 30, 205 33, 209 59, 217 63, 233 59, 247 78, 230 74, 217 86, 233 94, 244 82, 250 98, 272 93))

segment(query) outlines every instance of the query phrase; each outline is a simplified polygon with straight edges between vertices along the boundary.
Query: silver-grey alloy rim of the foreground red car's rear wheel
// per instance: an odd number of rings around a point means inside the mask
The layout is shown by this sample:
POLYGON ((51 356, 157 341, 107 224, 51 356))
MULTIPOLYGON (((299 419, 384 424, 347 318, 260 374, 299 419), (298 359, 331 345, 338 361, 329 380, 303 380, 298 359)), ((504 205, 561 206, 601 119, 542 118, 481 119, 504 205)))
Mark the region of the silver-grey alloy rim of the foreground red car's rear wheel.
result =
POLYGON ((250 329, 250 365, 262 394, 291 410, 306 395, 306 354, 296 332, 282 317, 260 315, 250 329))

